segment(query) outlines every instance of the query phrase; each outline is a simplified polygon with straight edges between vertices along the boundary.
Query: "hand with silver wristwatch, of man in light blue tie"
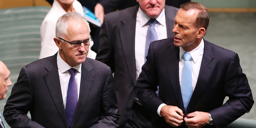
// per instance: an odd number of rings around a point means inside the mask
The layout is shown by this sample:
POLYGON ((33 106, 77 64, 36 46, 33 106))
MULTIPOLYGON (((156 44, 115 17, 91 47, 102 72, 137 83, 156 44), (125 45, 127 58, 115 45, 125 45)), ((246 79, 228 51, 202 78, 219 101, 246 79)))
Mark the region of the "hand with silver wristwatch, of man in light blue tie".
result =
POLYGON ((189 113, 185 118, 184 121, 188 128, 202 128, 207 125, 209 121, 209 115, 207 112, 192 112, 189 113))

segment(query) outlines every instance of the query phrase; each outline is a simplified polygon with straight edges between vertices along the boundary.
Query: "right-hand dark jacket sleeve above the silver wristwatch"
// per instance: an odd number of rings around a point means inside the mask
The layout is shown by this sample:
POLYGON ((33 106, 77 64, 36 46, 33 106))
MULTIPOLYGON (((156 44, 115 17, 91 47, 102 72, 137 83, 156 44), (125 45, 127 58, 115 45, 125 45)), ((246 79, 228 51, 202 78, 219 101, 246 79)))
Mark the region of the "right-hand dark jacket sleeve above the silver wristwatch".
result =
POLYGON ((229 64, 224 79, 224 91, 229 100, 220 108, 209 112, 217 128, 230 124, 249 112, 254 103, 247 77, 242 72, 237 54, 234 54, 229 64))

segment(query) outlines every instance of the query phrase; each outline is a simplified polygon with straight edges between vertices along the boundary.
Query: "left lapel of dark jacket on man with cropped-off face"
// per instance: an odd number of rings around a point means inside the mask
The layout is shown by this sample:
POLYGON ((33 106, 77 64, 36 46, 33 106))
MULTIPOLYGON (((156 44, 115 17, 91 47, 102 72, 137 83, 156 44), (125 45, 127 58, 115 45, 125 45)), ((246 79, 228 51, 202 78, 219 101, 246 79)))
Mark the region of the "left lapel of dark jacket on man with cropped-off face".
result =
POLYGON ((133 84, 136 83, 136 65, 135 65, 135 24, 136 16, 139 5, 133 7, 132 12, 129 15, 125 15, 124 19, 121 20, 122 25, 119 28, 119 34, 121 38, 121 44, 124 51, 124 57, 132 77, 133 84))

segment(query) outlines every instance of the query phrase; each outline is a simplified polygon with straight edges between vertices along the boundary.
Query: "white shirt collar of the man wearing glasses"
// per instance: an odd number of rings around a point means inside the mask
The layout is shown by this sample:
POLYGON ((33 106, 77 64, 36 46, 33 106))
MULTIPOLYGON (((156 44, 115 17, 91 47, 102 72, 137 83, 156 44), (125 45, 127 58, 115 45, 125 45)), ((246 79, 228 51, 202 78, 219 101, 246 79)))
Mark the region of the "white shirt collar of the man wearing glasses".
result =
POLYGON ((81 73, 82 64, 76 65, 75 67, 71 67, 64 60, 62 60, 59 52, 57 54, 57 65, 61 73, 68 71, 70 68, 75 68, 79 73, 81 73))

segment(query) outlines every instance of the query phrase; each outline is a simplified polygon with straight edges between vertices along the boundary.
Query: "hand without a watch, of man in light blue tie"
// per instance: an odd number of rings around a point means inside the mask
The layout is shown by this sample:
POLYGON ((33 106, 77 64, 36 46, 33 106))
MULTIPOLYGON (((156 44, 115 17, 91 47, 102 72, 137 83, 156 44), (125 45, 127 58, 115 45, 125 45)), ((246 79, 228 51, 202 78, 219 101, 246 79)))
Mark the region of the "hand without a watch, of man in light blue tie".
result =
POLYGON ((161 111, 160 115, 164 117, 164 120, 172 125, 172 127, 178 127, 183 123, 183 112, 180 108, 176 106, 165 105, 161 111))

